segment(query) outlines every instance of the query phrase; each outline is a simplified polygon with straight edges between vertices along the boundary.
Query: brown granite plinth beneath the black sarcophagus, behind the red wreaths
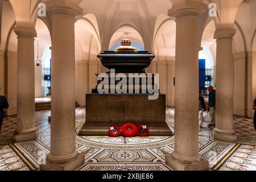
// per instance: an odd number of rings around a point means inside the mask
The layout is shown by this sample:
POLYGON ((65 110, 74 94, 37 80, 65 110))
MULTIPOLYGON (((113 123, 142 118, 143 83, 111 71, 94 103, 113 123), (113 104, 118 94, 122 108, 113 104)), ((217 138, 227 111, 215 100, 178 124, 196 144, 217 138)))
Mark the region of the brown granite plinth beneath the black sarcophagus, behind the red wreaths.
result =
POLYGON ((148 100, 150 94, 86 94, 83 136, 107 136, 109 127, 127 122, 146 124, 151 136, 171 136, 166 123, 166 95, 148 100))

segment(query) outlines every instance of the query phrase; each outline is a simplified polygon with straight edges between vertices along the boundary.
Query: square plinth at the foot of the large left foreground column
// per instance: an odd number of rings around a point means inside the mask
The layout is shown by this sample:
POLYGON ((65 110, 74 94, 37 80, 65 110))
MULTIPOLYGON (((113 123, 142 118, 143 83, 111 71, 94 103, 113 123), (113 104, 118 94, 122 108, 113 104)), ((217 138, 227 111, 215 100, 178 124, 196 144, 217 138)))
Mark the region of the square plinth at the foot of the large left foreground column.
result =
POLYGON ((41 171, 73 171, 77 167, 84 164, 84 154, 77 153, 75 158, 65 163, 50 163, 46 160, 46 164, 40 165, 41 171))

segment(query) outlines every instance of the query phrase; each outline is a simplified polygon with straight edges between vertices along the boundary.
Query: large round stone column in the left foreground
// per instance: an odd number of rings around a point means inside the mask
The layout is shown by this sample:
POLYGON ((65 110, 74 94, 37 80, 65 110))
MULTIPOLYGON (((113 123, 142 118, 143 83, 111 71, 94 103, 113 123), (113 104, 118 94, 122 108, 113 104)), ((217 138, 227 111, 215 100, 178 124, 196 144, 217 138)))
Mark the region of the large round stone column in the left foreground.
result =
POLYGON ((51 1, 47 7, 52 22, 51 152, 41 170, 69 171, 84 163, 75 132, 75 16, 82 10, 69 1, 51 1))

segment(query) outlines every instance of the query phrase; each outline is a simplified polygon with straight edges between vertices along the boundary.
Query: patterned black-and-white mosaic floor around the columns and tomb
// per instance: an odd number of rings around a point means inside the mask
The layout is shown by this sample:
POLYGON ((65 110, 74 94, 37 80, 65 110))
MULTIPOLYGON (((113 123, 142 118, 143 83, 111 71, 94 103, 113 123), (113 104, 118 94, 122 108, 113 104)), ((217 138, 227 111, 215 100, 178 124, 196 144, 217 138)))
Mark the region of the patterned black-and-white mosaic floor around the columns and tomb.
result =
MULTIPOLYGON (((38 170, 50 150, 50 111, 36 111, 38 140, 11 143, 16 119, 6 118, 0 135, 0 171, 38 170)), ((204 128, 199 135, 199 150, 209 161, 210 170, 256 171, 256 131, 250 118, 234 117, 239 143, 217 142, 208 128, 209 114, 204 113, 204 128)), ((76 132, 85 122, 85 108, 76 109, 76 132)), ((174 109, 166 109, 166 122, 174 130, 174 109)), ((110 138, 76 136, 76 148, 85 154, 85 164, 76 170, 169 171, 164 154, 174 151, 174 137, 110 138)))

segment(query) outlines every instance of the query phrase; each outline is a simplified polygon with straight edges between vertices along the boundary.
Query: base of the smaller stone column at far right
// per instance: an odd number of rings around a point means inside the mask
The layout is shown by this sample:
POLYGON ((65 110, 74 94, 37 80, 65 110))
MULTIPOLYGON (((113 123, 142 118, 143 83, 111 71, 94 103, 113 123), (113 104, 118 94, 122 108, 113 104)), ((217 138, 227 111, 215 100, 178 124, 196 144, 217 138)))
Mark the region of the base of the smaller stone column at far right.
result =
POLYGON ((237 143, 237 135, 235 131, 219 130, 215 128, 213 131, 213 139, 223 142, 237 143))

